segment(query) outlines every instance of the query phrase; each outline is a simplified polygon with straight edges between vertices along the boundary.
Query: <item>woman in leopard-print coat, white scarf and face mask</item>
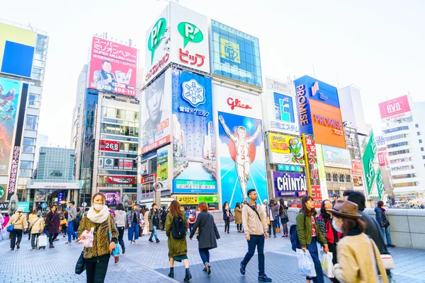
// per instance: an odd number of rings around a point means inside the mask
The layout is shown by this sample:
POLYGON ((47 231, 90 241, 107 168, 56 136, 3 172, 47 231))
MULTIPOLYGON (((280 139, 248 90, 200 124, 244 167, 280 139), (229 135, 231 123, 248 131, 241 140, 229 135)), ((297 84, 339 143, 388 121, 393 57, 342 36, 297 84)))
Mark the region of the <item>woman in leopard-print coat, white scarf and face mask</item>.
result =
POLYGON ((84 231, 91 231, 91 228, 94 228, 94 245, 92 248, 84 248, 83 252, 86 280, 87 283, 103 283, 108 271, 109 258, 116 248, 118 231, 115 228, 113 215, 105 205, 105 195, 101 192, 91 197, 91 207, 81 221, 77 241, 84 240, 85 237, 81 234, 84 231), (111 240, 109 233, 111 233, 111 240))

